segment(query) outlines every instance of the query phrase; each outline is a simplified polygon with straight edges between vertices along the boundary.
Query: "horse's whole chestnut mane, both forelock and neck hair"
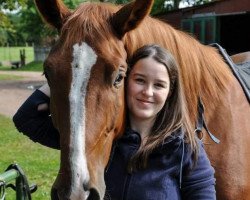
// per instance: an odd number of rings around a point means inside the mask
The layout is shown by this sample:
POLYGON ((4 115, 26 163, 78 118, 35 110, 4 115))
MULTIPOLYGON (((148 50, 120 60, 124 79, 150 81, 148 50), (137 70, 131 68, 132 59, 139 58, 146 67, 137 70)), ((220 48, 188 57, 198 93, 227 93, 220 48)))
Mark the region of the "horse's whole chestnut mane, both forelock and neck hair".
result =
MULTIPOLYGON (((90 45, 99 51, 99 56, 115 62, 114 56, 118 57, 121 52, 116 48, 117 38, 109 19, 118 8, 103 3, 80 5, 62 28, 63 49, 71 48, 72 44, 86 38, 87 42, 93 42, 90 45)), ((193 122, 197 117, 198 96, 210 111, 222 100, 232 75, 214 48, 204 46, 190 35, 151 17, 146 17, 138 28, 127 33, 123 41, 128 58, 137 48, 152 43, 165 47, 175 56, 193 122)))

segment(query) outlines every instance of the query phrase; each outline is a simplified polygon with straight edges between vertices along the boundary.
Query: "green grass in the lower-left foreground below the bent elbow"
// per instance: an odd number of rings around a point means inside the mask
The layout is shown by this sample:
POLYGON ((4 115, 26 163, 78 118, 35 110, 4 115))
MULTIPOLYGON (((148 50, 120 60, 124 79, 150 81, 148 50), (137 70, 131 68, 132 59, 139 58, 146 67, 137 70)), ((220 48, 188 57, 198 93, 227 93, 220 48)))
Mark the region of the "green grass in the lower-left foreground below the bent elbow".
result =
MULTIPOLYGON (((30 141, 19 133, 10 118, 0 115, 0 173, 12 163, 17 163, 28 177, 29 183, 38 185, 32 199, 50 199, 50 188, 59 168, 59 151, 30 141)), ((7 200, 14 200, 15 193, 7 189, 7 200)))

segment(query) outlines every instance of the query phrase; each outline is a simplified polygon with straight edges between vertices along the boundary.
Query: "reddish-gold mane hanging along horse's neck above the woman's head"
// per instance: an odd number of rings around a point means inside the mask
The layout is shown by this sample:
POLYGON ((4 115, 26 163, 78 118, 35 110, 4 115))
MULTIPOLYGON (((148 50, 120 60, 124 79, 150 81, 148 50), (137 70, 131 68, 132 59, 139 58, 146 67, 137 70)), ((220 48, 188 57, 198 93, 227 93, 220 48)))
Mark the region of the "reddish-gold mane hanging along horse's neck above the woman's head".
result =
POLYGON ((222 101, 223 93, 232 78, 231 72, 217 50, 202 45, 190 35, 176 30, 165 22, 147 17, 143 23, 125 37, 128 56, 150 43, 168 49, 176 58, 180 69, 190 117, 197 119, 198 96, 211 113, 222 101))

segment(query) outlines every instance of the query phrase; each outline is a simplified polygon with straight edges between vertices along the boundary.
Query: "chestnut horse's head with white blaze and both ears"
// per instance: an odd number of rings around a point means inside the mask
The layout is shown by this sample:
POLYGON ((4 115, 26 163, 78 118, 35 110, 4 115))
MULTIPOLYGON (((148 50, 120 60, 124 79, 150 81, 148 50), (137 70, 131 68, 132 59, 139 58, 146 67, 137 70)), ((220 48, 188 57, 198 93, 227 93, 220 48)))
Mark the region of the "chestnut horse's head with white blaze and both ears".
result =
POLYGON ((152 0, 118 8, 36 0, 43 18, 60 32, 44 63, 51 113, 60 132, 61 164, 52 199, 102 199, 112 141, 124 128, 127 53, 122 41, 149 13, 152 0))

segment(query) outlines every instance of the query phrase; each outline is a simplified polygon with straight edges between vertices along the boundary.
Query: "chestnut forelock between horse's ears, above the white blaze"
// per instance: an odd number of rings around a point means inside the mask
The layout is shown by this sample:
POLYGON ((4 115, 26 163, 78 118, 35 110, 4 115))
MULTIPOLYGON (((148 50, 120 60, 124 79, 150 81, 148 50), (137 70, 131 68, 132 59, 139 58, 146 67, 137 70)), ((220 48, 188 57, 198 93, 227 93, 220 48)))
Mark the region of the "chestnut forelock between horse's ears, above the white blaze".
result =
MULTIPOLYGON (((115 7, 107 4, 83 3, 68 17, 62 27, 64 48, 85 40, 95 45, 110 38, 112 27, 109 18, 115 7)), ((101 46, 101 44, 99 45, 101 46)))

